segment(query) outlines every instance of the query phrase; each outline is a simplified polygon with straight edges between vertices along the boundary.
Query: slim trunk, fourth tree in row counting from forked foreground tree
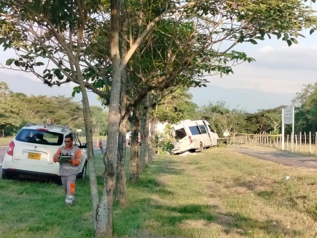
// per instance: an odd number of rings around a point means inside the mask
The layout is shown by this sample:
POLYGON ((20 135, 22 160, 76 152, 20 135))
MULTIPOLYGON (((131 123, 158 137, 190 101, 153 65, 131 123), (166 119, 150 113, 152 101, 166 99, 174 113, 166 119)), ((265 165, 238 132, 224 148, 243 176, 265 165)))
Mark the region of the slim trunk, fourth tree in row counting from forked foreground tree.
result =
POLYGON ((149 149, 148 149, 148 136, 149 136, 149 120, 148 120, 148 112, 149 112, 149 100, 148 96, 146 97, 145 108, 142 110, 141 117, 141 149, 140 149, 140 171, 143 171, 144 166, 148 164, 149 160, 149 149))

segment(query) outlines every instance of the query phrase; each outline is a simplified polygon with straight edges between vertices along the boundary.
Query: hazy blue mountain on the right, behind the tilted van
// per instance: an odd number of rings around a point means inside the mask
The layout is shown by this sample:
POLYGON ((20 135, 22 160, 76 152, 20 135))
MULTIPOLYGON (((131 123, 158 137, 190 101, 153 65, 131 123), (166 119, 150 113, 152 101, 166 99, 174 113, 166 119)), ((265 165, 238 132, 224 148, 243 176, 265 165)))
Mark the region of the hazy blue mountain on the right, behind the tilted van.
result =
POLYGON ((209 83, 206 88, 194 88, 192 101, 198 106, 209 102, 225 101, 230 109, 244 108, 248 112, 258 109, 275 108, 281 105, 291 105, 294 93, 267 93, 256 89, 227 89, 209 83))

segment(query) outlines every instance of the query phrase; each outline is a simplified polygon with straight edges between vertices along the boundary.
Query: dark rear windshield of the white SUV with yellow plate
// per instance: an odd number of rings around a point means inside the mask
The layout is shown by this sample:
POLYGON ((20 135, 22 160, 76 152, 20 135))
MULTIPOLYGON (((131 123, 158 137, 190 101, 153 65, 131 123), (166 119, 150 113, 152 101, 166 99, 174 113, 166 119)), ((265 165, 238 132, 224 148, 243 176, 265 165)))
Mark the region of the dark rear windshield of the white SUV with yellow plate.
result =
POLYGON ((17 141, 42 145, 61 145, 63 139, 64 135, 61 133, 36 129, 21 129, 16 135, 17 141))

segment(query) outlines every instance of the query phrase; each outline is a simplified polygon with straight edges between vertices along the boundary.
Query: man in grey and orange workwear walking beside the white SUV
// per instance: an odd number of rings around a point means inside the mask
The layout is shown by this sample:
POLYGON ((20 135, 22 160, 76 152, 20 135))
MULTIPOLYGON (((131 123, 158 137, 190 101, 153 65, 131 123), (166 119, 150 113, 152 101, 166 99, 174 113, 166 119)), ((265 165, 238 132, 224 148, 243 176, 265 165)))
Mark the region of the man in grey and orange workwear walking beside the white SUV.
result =
POLYGON ((65 146, 61 146, 53 156, 53 162, 59 162, 60 155, 72 155, 67 163, 60 163, 61 183, 66 193, 65 204, 72 206, 75 202, 75 186, 78 165, 81 164, 81 150, 73 145, 73 136, 65 136, 65 146))

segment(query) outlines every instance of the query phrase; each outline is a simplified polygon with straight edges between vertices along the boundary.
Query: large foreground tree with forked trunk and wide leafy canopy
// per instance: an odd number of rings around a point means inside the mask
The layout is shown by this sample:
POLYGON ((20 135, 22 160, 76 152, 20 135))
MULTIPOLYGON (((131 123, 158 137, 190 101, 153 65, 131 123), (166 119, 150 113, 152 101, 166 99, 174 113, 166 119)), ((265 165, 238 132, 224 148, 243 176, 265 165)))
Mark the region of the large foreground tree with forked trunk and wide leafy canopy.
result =
POLYGON ((129 15, 124 19, 129 23, 128 48, 121 58, 121 1, 111 0, 109 7, 108 2, 98 0, 0 0, 0 26, 4 36, 0 43, 5 49, 12 47, 19 52, 16 59, 7 61, 7 65, 14 63, 16 67, 35 73, 51 86, 69 81, 79 84, 89 158, 93 158, 93 147, 86 88, 109 98, 109 149, 104 159, 106 171, 101 198, 98 196, 94 163, 88 163, 96 235, 113 233, 112 204, 123 70, 133 73, 139 80, 130 86, 133 99, 127 106, 126 114, 129 115, 153 89, 164 91, 180 84, 202 85, 203 72, 229 74, 231 66, 253 61, 244 53, 232 50, 238 43, 256 43, 256 39, 263 40, 266 34, 268 37, 271 34, 282 37, 288 45, 297 43, 298 31, 304 26, 312 31, 315 29, 312 12, 302 2, 194 0, 144 4, 129 1, 125 4, 129 15), (168 24, 171 27, 166 28, 168 24), (104 35, 110 32, 110 41, 102 45, 105 48, 101 53, 104 55, 102 61, 89 54, 93 50, 91 43, 100 36, 94 34, 100 32, 97 29, 103 30, 104 35), (157 39, 162 37, 158 34, 165 35, 165 40, 159 42, 157 39), (152 43, 156 43, 157 47, 152 47, 152 43), (149 45, 151 47, 147 47, 149 45), (44 73, 38 72, 38 67, 42 65, 37 61, 39 57, 48 58, 56 68, 48 67, 44 73), (151 60, 139 64, 142 58, 151 60), (136 64, 132 65, 129 61, 136 64), (111 77, 108 75, 109 65, 111 77), (149 68, 154 68, 156 73, 153 74, 149 68), (66 79, 63 79, 64 76, 66 79), (111 92, 107 91, 107 87, 105 91, 96 89, 103 83, 109 86, 111 92))

